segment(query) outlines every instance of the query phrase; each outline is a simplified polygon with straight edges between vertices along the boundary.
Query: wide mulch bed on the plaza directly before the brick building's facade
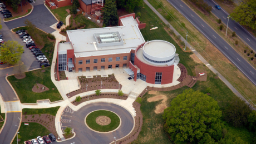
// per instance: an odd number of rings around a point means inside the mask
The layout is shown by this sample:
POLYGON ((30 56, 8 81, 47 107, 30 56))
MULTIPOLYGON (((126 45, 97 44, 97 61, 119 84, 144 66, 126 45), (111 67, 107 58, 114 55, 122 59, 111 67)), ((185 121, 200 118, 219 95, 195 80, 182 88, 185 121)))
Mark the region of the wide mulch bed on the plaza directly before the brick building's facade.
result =
POLYGON ((87 92, 87 91, 94 91, 100 89, 120 89, 122 85, 116 80, 114 75, 109 75, 109 77, 101 77, 101 76, 93 76, 93 78, 86 78, 85 76, 78 77, 80 82, 81 88, 79 90, 75 90, 66 94, 66 96, 72 97, 79 93, 87 92), (102 81, 102 88, 101 88, 101 81, 102 81), (86 91, 86 84, 88 85, 86 91))

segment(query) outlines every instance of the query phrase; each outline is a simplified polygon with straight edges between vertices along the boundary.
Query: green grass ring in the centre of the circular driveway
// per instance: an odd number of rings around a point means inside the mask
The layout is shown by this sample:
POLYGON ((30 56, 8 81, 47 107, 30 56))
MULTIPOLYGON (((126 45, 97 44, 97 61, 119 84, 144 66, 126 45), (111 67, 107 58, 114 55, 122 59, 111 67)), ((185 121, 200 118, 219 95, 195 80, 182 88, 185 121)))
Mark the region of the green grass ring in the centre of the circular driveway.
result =
POLYGON ((117 128, 120 124, 120 119, 119 117, 110 111, 95 111, 90 113, 87 117, 86 117, 86 123, 87 125, 92 128, 95 131, 100 131, 100 132, 109 132, 112 130, 115 130, 115 128, 117 128), (111 122, 109 125, 106 126, 101 126, 99 124, 96 123, 96 118, 99 116, 107 116, 111 119, 111 122))

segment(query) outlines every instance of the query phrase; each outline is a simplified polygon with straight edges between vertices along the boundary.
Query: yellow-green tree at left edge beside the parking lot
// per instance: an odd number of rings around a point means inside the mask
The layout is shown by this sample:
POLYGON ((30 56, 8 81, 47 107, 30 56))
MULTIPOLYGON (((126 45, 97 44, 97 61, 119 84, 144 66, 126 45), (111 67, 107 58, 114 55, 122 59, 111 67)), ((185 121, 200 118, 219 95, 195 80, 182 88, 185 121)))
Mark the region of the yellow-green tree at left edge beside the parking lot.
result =
POLYGON ((4 42, 0 48, 0 59, 11 65, 16 64, 21 59, 21 54, 24 51, 22 47, 17 41, 4 42))

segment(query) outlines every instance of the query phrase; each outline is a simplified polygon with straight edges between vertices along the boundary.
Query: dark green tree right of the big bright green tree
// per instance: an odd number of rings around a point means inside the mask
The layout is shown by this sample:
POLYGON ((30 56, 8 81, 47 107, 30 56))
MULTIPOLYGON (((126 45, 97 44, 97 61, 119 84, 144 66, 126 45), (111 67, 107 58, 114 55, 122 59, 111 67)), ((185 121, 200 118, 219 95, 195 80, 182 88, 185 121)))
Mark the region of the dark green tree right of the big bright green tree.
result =
POLYGON ((248 116, 252 112, 250 106, 238 97, 233 98, 230 105, 224 111, 225 121, 235 127, 242 127, 248 124, 248 116))

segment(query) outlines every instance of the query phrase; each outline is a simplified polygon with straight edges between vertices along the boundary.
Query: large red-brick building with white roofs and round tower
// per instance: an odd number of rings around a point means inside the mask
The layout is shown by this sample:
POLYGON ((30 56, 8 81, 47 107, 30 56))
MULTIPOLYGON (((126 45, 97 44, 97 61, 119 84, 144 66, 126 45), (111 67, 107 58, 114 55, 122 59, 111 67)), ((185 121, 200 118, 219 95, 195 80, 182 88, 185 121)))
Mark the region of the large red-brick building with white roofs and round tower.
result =
POLYGON ((67 31, 67 42, 58 43, 58 71, 100 71, 125 67, 136 81, 152 84, 173 82, 174 65, 179 63, 173 44, 155 40, 145 42, 145 28, 135 14, 119 19, 119 26, 67 31))

